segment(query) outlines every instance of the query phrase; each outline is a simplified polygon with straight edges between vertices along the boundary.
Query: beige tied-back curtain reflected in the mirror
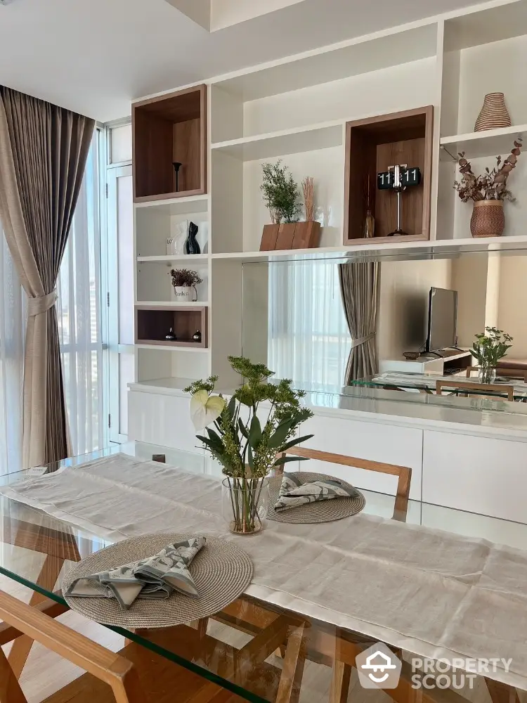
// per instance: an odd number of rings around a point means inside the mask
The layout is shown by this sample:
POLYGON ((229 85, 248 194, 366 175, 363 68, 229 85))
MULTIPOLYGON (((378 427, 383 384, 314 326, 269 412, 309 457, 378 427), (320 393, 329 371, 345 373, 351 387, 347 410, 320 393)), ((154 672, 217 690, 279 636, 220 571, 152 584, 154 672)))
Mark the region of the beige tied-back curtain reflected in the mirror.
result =
POLYGON ((350 385, 353 380, 377 373, 375 333, 379 264, 339 264, 339 278, 344 314, 351 335, 351 352, 344 376, 345 385, 350 385))

